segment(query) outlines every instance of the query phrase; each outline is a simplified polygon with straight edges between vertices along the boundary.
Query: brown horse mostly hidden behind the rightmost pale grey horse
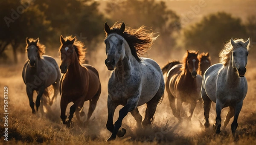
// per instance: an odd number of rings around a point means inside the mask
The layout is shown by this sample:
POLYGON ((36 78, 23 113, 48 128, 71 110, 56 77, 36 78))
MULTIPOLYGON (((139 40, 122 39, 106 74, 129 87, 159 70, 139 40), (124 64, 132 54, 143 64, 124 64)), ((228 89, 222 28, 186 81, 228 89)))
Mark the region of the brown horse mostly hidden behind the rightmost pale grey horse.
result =
POLYGON ((208 69, 208 67, 210 67, 211 64, 211 58, 209 57, 209 53, 204 53, 202 52, 199 55, 199 74, 200 75, 204 75, 204 72, 208 69))

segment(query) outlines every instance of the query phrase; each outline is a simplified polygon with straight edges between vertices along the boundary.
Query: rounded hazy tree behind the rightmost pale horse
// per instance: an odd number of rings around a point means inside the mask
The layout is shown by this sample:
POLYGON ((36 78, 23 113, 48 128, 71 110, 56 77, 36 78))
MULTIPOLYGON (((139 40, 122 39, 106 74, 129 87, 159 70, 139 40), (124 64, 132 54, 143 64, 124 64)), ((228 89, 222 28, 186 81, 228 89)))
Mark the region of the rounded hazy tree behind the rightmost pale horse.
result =
POLYGON ((183 47, 208 51, 212 56, 218 56, 224 43, 230 38, 244 38, 247 40, 245 26, 240 18, 231 14, 218 12, 209 14, 203 19, 189 26, 183 31, 183 47))

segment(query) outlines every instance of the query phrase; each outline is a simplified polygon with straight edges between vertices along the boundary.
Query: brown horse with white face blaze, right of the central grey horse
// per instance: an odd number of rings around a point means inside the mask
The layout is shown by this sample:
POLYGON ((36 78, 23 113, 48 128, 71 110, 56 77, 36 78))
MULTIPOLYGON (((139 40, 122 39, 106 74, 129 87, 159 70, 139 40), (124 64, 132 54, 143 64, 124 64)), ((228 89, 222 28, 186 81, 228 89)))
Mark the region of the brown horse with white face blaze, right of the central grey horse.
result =
MULTIPOLYGON (((201 99, 200 88, 202 77, 201 75, 197 75, 199 63, 197 57, 198 52, 187 51, 183 58, 183 63, 174 65, 166 75, 166 91, 172 113, 179 120, 181 120, 180 112, 183 109, 180 107, 183 102, 191 104, 189 109, 190 116, 188 116, 188 119, 191 119, 197 101, 201 99), (175 99, 177 99, 176 105, 175 99)), ((175 63, 171 62, 169 64, 175 63)))

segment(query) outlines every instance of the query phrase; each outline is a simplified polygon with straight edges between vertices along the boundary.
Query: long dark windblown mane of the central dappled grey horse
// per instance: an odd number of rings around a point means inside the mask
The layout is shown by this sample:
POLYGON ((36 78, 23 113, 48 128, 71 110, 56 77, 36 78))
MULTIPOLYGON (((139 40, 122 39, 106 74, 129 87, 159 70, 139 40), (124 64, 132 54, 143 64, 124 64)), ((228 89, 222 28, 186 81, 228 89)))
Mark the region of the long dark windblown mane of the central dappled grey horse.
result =
POLYGON ((120 31, 122 23, 116 22, 111 27, 110 32, 106 33, 106 37, 111 33, 117 33, 121 35, 128 43, 131 49, 131 54, 136 58, 138 62, 141 62, 140 56, 143 55, 151 48, 153 41, 157 38, 154 37, 154 33, 151 29, 147 29, 145 26, 141 26, 138 29, 132 29, 125 26, 125 31, 120 31))

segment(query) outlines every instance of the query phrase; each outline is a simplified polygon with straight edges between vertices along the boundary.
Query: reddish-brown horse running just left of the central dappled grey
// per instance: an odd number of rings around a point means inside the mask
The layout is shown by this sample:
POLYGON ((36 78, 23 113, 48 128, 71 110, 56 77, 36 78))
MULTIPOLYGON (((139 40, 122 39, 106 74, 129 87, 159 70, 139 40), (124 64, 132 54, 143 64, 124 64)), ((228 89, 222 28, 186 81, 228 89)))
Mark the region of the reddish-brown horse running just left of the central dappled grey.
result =
POLYGON ((76 112, 76 118, 81 123, 80 116, 84 116, 84 102, 89 100, 89 110, 85 124, 89 122, 95 110, 101 93, 101 83, 98 71, 89 64, 81 64, 85 59, 84 44, 76 39, 67 36, 60 37, 61 46, 61 76, 59 91, 61 94, 61 119, 63 124, 70 127, 70 122, 76 112), (67 105, 73 102, 70 107, 70 114, 67 119, 67 105))

